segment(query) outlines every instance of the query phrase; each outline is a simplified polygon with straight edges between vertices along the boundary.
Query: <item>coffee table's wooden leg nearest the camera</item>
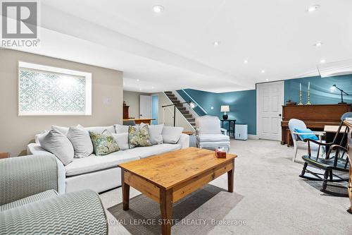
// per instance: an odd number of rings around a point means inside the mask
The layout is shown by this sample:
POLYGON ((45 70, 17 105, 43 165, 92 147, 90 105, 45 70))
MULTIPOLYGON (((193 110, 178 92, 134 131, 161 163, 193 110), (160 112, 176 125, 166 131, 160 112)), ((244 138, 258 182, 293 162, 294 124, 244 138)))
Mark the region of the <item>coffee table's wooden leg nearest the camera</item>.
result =
POLYGON ((170 235, 172 225, 172 189, 160 189, 161 234, 170 235))

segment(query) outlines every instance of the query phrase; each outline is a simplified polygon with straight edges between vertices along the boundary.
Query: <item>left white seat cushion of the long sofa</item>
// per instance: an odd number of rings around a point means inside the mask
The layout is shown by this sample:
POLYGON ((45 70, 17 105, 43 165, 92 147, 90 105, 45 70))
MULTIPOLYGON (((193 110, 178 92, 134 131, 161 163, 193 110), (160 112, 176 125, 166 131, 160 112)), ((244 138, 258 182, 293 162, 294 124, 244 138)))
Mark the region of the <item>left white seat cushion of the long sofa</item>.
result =
MULTIPOLYGON (((75 158, 73 162, 65 166, 66 176, 75 176, 102 169, 118 167, 118 164, 139 159, 137 154, 132 152, 118 151, 103 157, 90 155, 89 157, 75 158)), ((111 179, 113 180, 113 179, 111 179)))

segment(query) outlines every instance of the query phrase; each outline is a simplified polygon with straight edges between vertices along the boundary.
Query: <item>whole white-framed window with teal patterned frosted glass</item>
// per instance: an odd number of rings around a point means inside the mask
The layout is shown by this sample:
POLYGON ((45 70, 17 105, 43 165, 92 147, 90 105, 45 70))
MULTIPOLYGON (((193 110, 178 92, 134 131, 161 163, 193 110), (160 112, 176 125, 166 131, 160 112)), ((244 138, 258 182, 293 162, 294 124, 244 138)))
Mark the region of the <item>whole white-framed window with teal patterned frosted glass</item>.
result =
POLYGON ((92 73, 18 63, 18 115, 91 115, 92 73))

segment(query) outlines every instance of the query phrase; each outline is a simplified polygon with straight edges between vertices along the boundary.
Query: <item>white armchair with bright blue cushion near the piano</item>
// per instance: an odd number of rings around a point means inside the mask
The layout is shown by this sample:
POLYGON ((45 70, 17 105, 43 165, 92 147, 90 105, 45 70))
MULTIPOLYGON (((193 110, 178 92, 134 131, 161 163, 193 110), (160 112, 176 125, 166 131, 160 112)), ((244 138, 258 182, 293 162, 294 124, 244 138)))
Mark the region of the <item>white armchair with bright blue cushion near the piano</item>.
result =
MULTIPOLYGON (((291 132, 292 140, 294 142, 294 157, 292 158, 292 161, 295 162, 296 156, 297 156, 297 151, 299 150, 307 150, 308 151, 308 143, 304 142, 299 138, 299 135, 307 135, 307 134, 312 134, 312 133, 298 133, 295 131, 295 129, 298 130, 305 130, 307 128, 306 123, 299 119, 290 119, 289 120, 289 131, 291 132)), ((319 142, 325 143, 324 140, 322 140, 322 136, 325 135, 325 132, 321 131, 313 131, 313 135, 317 135, 319 138, 319 142)), ((318 148, 320 145, 317 145, 315 143, 310 143, 310 150, 313 152, 318 152, 318 148)), ((324 147, 322 147, 322 150, 320 150, 321 154, 324 153, 324 147)))

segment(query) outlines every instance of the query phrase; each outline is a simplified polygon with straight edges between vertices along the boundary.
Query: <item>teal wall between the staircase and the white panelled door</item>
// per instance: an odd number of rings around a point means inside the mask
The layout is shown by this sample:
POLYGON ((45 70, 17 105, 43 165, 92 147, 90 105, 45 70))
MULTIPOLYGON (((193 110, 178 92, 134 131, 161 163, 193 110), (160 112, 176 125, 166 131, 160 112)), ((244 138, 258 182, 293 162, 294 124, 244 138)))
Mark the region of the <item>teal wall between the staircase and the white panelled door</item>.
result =
MULTIPOLYGON (((230 105, 230 112, 227 112, 229 119, 236 119, 237 123, 248 123, 248 133, 256 135, 256 90, 244 90, 237 92, 213 93, 201 90, 185 89, 191 96, 191 99, 196 101, 209 115, 218 116, 222 119, 220 112, 221 105, 230 105), (211 109, 213 107, 213 109, 211 109)), ((182 90, 177 92, 184 98, 189 100, 188 96, 182 93, 182 90)), ((194 111, 200 116, 203 112, 194 111)))

